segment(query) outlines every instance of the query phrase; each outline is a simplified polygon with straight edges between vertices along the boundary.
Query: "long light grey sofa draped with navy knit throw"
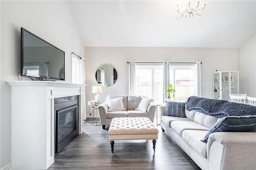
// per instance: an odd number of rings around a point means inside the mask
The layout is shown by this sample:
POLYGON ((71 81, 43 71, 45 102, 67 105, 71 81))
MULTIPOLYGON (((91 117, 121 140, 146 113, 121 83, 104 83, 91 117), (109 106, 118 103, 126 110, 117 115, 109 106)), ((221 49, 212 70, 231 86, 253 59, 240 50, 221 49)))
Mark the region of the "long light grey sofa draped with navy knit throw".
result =
POLYGON ((160 106, 162 131, 165 131, 202 169, 256 169, 256 133, 217 132, 202 142, 218 118, 185 110, 187 118, 164 116, 160 106))

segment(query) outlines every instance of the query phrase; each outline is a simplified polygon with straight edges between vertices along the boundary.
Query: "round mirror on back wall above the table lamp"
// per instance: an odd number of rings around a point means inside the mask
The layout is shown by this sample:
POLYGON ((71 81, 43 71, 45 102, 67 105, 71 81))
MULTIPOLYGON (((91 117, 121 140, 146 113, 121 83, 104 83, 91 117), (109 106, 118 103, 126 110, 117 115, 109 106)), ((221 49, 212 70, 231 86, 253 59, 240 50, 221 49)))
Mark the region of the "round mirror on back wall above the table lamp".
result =
POLYGON ((101 65, 96 71, 95 78, 101 86, 113 86, 117 80, 116 68, 109 64, 101 65))

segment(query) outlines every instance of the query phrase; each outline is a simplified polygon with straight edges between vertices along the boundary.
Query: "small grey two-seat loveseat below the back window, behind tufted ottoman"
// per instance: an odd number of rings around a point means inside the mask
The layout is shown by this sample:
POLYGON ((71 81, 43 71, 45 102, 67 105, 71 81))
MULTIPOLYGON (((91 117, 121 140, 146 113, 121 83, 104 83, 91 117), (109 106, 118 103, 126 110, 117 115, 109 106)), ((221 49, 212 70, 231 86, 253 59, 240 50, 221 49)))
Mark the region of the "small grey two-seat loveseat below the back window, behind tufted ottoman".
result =
POLYGON ((148 106, 145 112, 135 110, 141 101, 141 95, 108 95, 107 100, 119 97, 123 98, 124 111, 108 111, 108 104, 106 102, 98 106, 100 122, 103 129, 105 129, 106 125, 110 125, 114 117, 148 117, 151 122, 154 122, 156 105, 148 106))

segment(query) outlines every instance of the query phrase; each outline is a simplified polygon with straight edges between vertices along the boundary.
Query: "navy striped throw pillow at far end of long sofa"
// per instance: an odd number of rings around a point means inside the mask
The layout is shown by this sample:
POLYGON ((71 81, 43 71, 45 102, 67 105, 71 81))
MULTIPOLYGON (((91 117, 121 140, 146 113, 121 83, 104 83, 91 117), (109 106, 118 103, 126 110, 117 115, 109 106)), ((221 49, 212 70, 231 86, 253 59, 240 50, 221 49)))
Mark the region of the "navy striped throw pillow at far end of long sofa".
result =
POLYGON ((174 116, 174 117, 186 117, 185 103, 166 101, 166 107, 163 115, 174 116))

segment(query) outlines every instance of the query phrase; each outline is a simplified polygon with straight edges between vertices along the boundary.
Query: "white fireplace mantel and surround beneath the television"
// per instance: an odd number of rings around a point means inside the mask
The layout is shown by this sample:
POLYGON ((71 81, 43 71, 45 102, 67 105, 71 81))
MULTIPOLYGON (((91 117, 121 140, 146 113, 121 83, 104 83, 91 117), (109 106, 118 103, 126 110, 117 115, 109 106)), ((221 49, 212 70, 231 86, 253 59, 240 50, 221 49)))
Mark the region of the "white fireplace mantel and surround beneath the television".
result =
POLYGON ((47 169, 54 162, 54 98, 79 95, 79 134, 86 112, 84 84, 10 81, 13 169, 47 169))

